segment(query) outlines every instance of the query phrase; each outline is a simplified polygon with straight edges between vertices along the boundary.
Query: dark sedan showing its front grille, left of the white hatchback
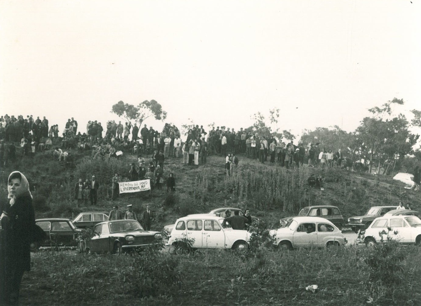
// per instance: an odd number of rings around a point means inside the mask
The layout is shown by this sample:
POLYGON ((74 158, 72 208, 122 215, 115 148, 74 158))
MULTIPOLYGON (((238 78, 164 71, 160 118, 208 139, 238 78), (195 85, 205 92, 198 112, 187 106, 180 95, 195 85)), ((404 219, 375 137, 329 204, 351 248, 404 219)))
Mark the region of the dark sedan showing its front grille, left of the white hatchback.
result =
POLYGON ((162 241, 159 231, 145 231, 136 220, 113 220, 97 224, 95 236, 85 241, 85 250, 91 253, 113 252, 121 254, 128 250, 140 252, 148 245, 162 241))

